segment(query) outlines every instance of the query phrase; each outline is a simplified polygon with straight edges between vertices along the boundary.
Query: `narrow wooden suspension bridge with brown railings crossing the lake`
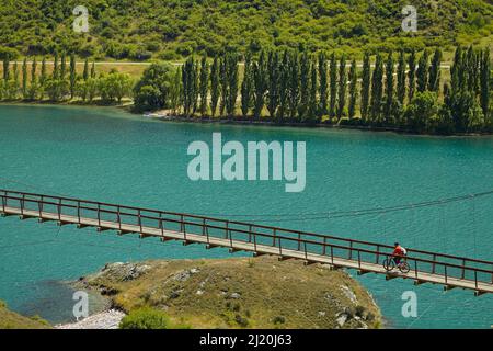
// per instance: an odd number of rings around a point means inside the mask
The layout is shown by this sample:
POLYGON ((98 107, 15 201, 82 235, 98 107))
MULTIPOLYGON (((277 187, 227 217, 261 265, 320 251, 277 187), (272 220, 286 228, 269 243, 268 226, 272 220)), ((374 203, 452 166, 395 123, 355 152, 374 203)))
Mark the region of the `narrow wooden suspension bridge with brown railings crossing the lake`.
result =
MULTIPOLYGON (((142 239, 180 240, 184 246, 202 244, 207 249, 228 248, 230 252, 253 252, 254 257, 272 254, 280 261, 296 259, 305 264, 354 269, 358 274, 377 273, 387 280, 411 280, 415 285, 439 284, 445 291, 469 290, 475 296, 493 293, 493 262, 485 260, 408 249, 410 271, 389 272, 382 262, 391 256, 393 247, 383 244, 58 195, 0 190, 0 199, 2 217, 94 227, 98 231, 136 234, 142 239)), ((457 199, 461 197, 448 201, 457 199)), ((433 202, 421 205, 429 204, 433 202)))

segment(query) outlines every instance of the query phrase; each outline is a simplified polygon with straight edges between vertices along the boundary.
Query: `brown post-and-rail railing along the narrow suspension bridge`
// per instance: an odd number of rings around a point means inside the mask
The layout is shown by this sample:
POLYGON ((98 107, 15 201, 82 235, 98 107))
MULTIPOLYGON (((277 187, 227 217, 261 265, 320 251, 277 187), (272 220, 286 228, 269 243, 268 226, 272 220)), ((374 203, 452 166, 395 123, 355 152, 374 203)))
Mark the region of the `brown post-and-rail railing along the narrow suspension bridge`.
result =
MULTIPOLYGON (((207 242, 210 238, 222 238, 230 241, 231 248, 234 242, 250 244, 254 250, 257 246, 268 246, 275 248, 279 256, 294 250, 305 254, 307 260, 311 254, 317 254, 329 258, 332 263, 337 259, 357 262, 358 268, 368 263, 381 264, 393 250, 388 245, 363 240, 71 197, 8 190, 0 190, 0 210, 3 212, 7 207, 13 207, 19 208, 21 214, 25 211, 36 212, 39 217, 43 213, 55 214, 59 220, 64 216, 71 216, 78 223, 82 218, 91 218, 100 227, 113 223, 119 229, 133 226, 136 233, 153 228, 160 230, 160 236, 172 230, 182 233, 184 240, 192 234, 204 236, 207 242)), ((479 283, 493 283, 493 262, 416 249, 408 249, 408 253, 411 273, 416 279, 419 273, 429 273, 442 275, 445 281, 473 281, 475 287, 479 283)))

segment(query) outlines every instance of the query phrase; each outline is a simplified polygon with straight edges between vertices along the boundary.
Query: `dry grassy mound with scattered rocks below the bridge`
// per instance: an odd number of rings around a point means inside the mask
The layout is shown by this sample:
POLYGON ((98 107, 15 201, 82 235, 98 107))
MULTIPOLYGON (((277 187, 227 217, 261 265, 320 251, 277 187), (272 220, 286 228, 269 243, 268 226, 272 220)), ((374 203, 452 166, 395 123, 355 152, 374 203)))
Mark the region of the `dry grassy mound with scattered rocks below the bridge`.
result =
POLYGON ((128 267, 116 267, 87 282, 112 290, 114 304, 130 312, 131 320, 151 314, 164 328, 336 328, 336 314, 344 307, 353 317, 345 328, 359 327, 359 315, 370 328, 380 325, 369 294, 344 271, 268 257, 142 264, 149 269, 137 279, 122 274, 128 267), (343 285, 354 292, 356 303, 343 285))

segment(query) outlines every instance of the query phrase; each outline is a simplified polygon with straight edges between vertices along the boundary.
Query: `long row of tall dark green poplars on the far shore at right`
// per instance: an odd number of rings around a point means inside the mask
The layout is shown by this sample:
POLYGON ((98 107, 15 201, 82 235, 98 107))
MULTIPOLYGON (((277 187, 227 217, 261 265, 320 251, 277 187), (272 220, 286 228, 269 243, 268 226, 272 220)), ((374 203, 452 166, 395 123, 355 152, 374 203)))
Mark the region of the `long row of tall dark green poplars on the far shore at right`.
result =
POLYGON ((199 114, 231 118, 241 114, 243 118, 268 116, 278 122, 353 121, 405 128, 416 121, 427 123, 406 113, 411 104, 420 103, 416 100, 421 94, 427 93, 435 95, 437 118, 451 124, 449 132, 470 128, 471 111, 457 113, 458 107, 480 106, 484 126, 491 121, 489 49, 458 47, 451 82, 444 86, 442 56, 440 49, 377 54, 375 59, 365 54, 359 69, 356 60, 348 61, 345 55, 261 52, 256 59, 250 54, 244 56, 241 81, 237 54, 226 53, 213 61, 191 57, 177 72, 181 99, 173 107, 186 117, 199 114), (445 99, 438 104, 442 89, 445 99))

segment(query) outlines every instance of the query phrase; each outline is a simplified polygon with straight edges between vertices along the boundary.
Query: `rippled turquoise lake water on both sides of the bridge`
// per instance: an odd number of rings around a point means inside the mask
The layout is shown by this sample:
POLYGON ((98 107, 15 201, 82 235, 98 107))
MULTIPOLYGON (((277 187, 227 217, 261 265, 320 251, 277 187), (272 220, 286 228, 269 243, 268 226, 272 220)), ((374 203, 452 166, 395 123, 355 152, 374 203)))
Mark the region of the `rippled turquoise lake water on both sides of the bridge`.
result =
MULTIPOLYGON (((252 215, 241 219, 347 238, 492 260, 493 197, 380 215, 312 215, 392 206, 493 189, 493 138, 439 138, 390 133, 192 125, 149 121, 115 109, 0 106, 0 188, 159 210, 252 215), (283 182, 193 182, 188 144, 225 140, 307 143, 307 186, 283 182), (299 214, 266 217, 265 215, 299 214), (311 219, 301 220, 301 216, 311 219)), ((238 219, 237 217, 233 217, 238 219)), ((70 319, 62 280, 107 262, 149 258, 229 257, 226 250, 117 237, 34 220, 0 219, 0 299, 57 322, 70 319)), ((300 263, 301 264, 301 263, 300 263)), ((356 275, 355 272, 351 272, 356 275)), ((490 328, 493 296, 367 274, 390 328, 490 328), (401 295, 417 294, 417 318, 404 318, 401 295)))

